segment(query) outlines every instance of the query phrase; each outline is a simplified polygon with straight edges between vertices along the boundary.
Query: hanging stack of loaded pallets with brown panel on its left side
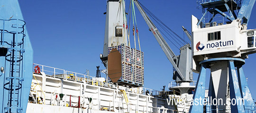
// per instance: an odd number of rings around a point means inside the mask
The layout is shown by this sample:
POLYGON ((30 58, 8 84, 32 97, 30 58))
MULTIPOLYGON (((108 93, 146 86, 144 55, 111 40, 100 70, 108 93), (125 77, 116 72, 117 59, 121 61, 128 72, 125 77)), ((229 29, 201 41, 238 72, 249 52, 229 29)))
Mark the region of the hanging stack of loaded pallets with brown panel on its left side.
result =
POLYGON ((108 76, 119 85, 141 87, 144 85, 143 52, 121 44, 108 48, 108 76))

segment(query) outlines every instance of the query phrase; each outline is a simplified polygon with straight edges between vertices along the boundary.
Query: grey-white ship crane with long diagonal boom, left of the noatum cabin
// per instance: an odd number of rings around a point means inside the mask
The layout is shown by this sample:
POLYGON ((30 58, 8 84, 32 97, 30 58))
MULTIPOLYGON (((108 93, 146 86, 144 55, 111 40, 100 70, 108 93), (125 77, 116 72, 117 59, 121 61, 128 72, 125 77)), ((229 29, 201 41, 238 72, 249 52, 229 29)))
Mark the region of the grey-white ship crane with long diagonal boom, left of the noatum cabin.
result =
MULTIPOLYGON (((194 86, 190 86, 190 82, 193 80, 192 75, 192 49, 190 44, 186 44, 180 48, 180 55, 175 55, 173 50, 165 41, 163 35, 159 32, 155 24, 152 22, 150 17, 146 14, 142 8, 141 3, 138 0, 134 0, 140 14, 144 18, 149 30, 155 36, 158 44, 162 48, 167 56, 168 60, 174 67, 173 79, 180 84, 181 87, 177 88, 180 95, 187 95, 188 89, 194 89, 194 86)), ((172 88, 171 88, 172 89, 172 88)), ((175 89, 175 88, 174 88, 175 89)))

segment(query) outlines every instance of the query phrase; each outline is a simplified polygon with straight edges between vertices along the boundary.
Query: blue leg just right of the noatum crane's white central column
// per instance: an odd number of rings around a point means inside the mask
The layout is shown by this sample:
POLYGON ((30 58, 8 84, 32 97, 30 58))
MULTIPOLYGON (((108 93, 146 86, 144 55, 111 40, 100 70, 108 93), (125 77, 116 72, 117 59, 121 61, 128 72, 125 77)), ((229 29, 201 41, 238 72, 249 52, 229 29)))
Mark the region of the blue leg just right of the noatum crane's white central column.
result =
POLYGON ((230 99, 236 99, 237 103, 235 105, 231 104, 231 112, 232 113, 245 113, 243 102, 238 102, 241 100, 241 93, 238 83, 238 77, 236 73, 236 68, 234 65, 234 61, 229 61, 229 90, 230 90, 230 99))

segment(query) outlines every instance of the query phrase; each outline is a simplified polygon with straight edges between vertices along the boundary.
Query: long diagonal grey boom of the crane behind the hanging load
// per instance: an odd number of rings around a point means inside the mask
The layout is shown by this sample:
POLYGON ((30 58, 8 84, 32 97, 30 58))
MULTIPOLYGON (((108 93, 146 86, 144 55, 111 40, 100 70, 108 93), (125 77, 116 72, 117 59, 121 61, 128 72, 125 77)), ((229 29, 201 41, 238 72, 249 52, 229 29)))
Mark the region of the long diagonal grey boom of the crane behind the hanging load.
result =
POLYGON ((146 12, 141 8, 137 0, 134 0, 134 3, 136 4, 140 14, 146 21, 146 24, 148 25, 150 31, 155 36, 155 39, 157 40, 160 47, 163 49, 165 55, 167 56, 168 60, 171 62, 171 64, 174 66, 176 72, 179 74, 179 76, 184 80, 183 74, 181 73, 178 66, 175 64, 173 57, 175 56, 173 50, 169 47, 167 42, 165 41, 164 37, 161 35, 161 33, 158 31, 158 29, 155 27, 155 24, 151 21, 151 19, 147 16, 146 12))

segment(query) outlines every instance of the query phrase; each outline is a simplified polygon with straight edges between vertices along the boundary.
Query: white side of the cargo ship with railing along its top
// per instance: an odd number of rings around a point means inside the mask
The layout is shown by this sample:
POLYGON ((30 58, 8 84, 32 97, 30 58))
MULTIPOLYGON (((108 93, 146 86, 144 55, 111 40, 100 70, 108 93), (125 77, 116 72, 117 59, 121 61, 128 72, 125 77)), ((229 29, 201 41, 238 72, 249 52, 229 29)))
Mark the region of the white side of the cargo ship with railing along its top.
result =
POLYGON ((34 98, 27 113, 176 113, 161 91, 127 88, 81 73, 39 67, 41 73, 33 74, 30 93, 34 98), (64 95, 62 100, 60 94, 64 95))

